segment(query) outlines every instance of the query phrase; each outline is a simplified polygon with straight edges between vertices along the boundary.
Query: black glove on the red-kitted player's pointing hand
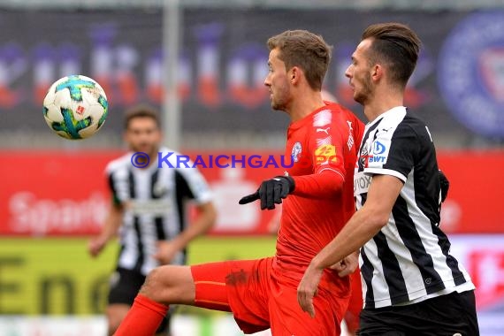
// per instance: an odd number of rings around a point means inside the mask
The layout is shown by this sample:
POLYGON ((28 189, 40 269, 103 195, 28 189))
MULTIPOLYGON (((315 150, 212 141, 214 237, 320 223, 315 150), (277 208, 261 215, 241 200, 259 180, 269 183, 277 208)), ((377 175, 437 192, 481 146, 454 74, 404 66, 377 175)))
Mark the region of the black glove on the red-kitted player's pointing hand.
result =
POLYGON ((261 210, 275 209, 275 203, 280 204, 282 199, 294 191, 294 179, 290 176, 277 176, 261 183, 261 187, 254 194, 244 196, 240 204, 247 204, 261 200, 261 210))

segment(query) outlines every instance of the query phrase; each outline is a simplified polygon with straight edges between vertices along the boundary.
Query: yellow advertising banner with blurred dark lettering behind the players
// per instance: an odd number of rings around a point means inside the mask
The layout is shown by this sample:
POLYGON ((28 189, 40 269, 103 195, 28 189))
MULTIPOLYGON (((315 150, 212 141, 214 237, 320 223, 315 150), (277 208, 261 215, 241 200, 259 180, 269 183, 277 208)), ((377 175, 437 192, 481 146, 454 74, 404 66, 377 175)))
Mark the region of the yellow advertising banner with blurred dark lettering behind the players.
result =
MULTIPOLYGON (((254 259, 274 247, 273 235, 202 237, 187 257, 190 264, 254 259)), ((0 238, 0 316, 103 314, 118 248, 111 241, 92 259, 86 238, 0 238)))

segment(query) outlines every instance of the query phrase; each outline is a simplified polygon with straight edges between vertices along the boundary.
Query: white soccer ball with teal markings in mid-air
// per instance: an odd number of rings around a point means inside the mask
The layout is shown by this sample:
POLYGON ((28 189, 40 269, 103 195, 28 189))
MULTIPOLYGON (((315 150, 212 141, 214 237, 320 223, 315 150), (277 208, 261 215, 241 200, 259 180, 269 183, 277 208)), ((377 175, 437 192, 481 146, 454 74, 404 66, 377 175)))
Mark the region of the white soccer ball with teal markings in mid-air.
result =
POLYGON ((85 139, 103 126, 109 103, 95 80, 82 75, 55 81, 43 100, 43 117, 57 135, 85 139))

